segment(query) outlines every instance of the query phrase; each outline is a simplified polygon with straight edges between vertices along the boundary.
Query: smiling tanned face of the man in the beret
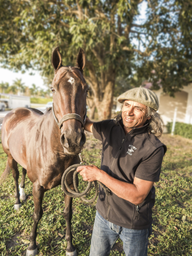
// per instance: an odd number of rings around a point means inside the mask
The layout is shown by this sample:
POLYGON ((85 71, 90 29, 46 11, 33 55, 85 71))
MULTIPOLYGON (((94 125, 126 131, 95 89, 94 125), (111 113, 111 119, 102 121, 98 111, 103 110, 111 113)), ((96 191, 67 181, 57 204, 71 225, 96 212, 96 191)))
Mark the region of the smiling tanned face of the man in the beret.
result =
POLYGON ((126 99, 122 109, 122 119, 125 133, 130 132, 133 127, 142 127, 147 120, 151 119, 151 117, 146 116, 146 105, 126 99))

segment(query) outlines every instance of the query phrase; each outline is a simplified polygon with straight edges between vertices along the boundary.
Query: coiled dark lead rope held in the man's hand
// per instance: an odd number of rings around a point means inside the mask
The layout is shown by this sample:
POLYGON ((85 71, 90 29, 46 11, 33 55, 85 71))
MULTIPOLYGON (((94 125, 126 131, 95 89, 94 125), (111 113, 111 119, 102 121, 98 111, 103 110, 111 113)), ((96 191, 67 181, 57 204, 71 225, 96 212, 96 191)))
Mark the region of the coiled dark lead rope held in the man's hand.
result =
POLYGON ((88 185, 87 185, 87 188, 82 192, 80 193, 79 190, 78 190, 78 182, 79 182, 79 178, 78 178, 78 172, 76 171, 77 167, 79 166, 82 166, 82 165, 87 165, 86 161, 83 160, 82 158, 82 155, 81 153, 79 153, 79 158, 80 158, 80 164, 76 164, 76 165, 72 165, 72 166, 69 166, 67 168, 67 170, 65 170, 63 176, 62 176, 62 179, 61 179, 61 189, 64 191, 64 193, 70 197, 74 197, 74 198, 77 198, 77 197, 81 197, 81 199, 84 201, 84 202, 87 202, 87 203, 93 203, 95 201, 95 199, 97 198, 98 196, 98 184, 101 185, 101 187, 104 189, 105 193, 107 196, 110 196, 112 195, 112 192, 110 191, 110 189, 108 187, 106 187, 104 184, 102 184, 100 181, 89 181, 88 182, 88 185), (71 172, 74 172, 73 174, 73 183, 74 183, 74 190, 72 190, 68 183, 67 183, 67 177, 68 175, 71 173, 71 172), (97 184, 98 182, 98 184, 97 184), (90 193, 91 191, 91 187, 92 185, 95 186, 95 195, 93 198, 91 199, 86 199, 86 196, 90 193))

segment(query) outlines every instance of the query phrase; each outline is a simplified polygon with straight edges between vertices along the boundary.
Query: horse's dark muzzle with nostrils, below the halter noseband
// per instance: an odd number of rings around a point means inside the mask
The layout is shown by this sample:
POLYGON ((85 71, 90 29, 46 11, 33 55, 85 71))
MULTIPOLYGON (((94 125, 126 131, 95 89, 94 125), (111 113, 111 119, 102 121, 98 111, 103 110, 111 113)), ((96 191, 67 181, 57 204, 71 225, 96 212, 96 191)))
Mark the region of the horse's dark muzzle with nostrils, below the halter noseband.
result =
POLYGON ((65 130, 61 134, 60 141, 66 155, 76 155, 82 151, 86 136, 82 129, 78 129, 77 132, 65 130))

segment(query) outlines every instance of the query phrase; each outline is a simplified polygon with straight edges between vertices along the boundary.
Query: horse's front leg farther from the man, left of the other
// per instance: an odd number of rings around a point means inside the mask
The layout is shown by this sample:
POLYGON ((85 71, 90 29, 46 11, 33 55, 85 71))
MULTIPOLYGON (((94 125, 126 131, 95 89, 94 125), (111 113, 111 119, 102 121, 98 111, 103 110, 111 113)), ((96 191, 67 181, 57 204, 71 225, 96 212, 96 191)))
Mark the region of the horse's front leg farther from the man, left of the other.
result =
POLYGON ((35 210, 33 213, 34 225, 30 233, 30 244, 27 248, 26 256, 30 256, 30 255, 35 256, 38 254, 37 244, 36 244, 37 226, 38 226, 38 222, 40 221, 43 215, 42 200, 44 197, 44 193, 45 193, 45 190, 42 186, 39 185, 39 182, 38 181, 34 182, 33 184, 33 200, 34 200, 34 206, 35 206, 35 210))

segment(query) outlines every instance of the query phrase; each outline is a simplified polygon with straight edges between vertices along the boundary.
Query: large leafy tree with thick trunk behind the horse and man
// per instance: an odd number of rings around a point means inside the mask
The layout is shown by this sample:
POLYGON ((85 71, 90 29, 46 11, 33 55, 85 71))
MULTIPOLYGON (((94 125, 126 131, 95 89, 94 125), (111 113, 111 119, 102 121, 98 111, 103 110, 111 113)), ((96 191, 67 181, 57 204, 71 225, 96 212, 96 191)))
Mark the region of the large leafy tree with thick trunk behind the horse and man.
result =
POLYGON ((83 48, 100 119, 110 118, 116 77, 132 86, 145 79, 155 89, 161 81, 173 95, 191 80, 192 3, 147 0, 146 20, 139 22, 142 1, 0 0, 0 61, 50 79, 53 48, 60 47, 63 65, 74 65, 83 48))

